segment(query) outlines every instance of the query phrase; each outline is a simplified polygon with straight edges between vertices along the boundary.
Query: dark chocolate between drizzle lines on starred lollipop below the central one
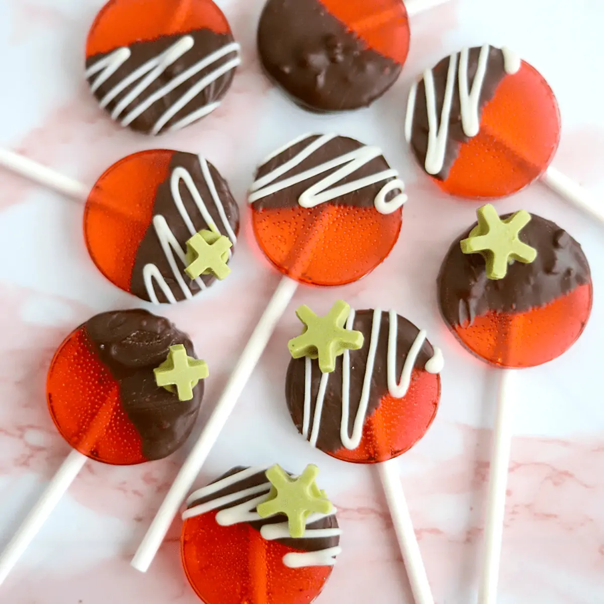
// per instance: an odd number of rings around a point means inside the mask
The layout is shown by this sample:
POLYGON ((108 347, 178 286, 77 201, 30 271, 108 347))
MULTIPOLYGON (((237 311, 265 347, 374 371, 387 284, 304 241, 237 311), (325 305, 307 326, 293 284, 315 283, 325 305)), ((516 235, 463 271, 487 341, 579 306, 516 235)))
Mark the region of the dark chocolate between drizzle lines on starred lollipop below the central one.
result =
MULTIPOLYGON (((369 355, 369 342, 371 339, 371 324, 373 323, 373 310, 359 310, 355 315, 355 321, 352 329, 361 332, 365 336, 365 342, 360 350, 350 351, 350 413, 349 413, 349 434, 355 423, 356 412, 361 401, 361 391, 365 379, 365 368, 367 367, 367 357, 369 355)), ((411 345, 419 334, 419 329, 411 321, 406 320, 399 315, 397 335, 397 354, 396 354, 396 375, 400 376, 403 365, 411 345)), ((388 394, 388 329, 390 328, 390 318, 387 312, 382 312, 382 323, 377 341, 376 359, 373 368, 373 378, 371 379, 371 390, 369 394, 369 403, 365 418, 373 414, 379 406, 379 403, 385 395, 388 394)), ((422 349, 417 356, 415 368, 423 369, 432 356, 434 349, 428 340, 423 343, 422 349)), ((292 359, 288 367, 288 376, 285 384, 285 397, 288 403, 289 413, 294 420, 296 428, 302 433, 304 421, 304 376, 306 375, 306 359, 292 359)), ((321 383, 321 370, 318 361, 312 361, 312 381, 310 390, 310 417, 315 413, 315 402, 321 383)), ((321 451, 335 453, 342 448, 340 439, 340 423, 342 419, 342 356, 336 359, 336 368, 330 374, 327 382, 327 390, 323 401, 323 412, 321 413, 321 428, 319 431, 316 446, 321 451)), ((311 420, 312 424, 312 420, 311 420)))

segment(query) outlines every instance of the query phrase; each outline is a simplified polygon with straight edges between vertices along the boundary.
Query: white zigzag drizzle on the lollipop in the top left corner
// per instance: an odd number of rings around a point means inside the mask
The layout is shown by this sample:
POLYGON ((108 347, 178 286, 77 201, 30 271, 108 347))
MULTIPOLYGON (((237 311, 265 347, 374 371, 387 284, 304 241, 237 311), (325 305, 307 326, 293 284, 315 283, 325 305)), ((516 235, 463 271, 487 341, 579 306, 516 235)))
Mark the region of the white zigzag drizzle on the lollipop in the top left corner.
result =
MULTIPOLYGON (((187 92, 185 92, 185 94, 178 99, 178 101, 173 103, 164 111, 164 113, 162 113, 151 130, 152 134, 157 134, 162 127, 164 127, 165 124, 167 124, 179 111, 181 111, 181 109, 184 108, 187 103, 193 100, 194 97, 201 94, 201 92, 210 86, 211 83, 216 82, 217 79, 231 71, 231 69, 236 68, 241 63, 240 46, 237 42, 231 42, 222 48, 219 48, 219 50, 214 51, 214 53, 208 54, 207 57, 204 57, 204 59, 198 61, 186 71, 178 74, 178 76, 174 77, 159 90, 153 92, 153 94, 149 95, 149 97, 147 97, 145 100, 140 101, 138 104, 135 103, 140 95, 143 94, 143 92, 146 91, 147 88, 149 88, 149 86, 155 82, 155 80, 158 79, 158 77, 161 76, 161 74, 167 68, 169 68, 170 65, 175 63, 185 53, 188 53, 188 51, 193 48, 194 43, 193 36, 183 36, 162 53, 158 54, 152 59, 149 59, 146 63, 141 65, 138 69, 132 71, 132 73, 118 82, 110 91, 108 91, 100 101, 101 107, 106 107, 128 86, 137 83, 137 85, 133 86, 132 90, 130 90, 128 94, 126 94, 124 98, 117 103, 111 112, 111 117, 114 118, 114 120, 118 120, 126 109, 133 105, 132 108, 130 108, 130 111, 127 112, 120 121, 122 126, 128 126, 144 111, 147 111, 147 109, 149 109, 153 103, 156 103, 161 98, 164 98, 165 95, 169 94, 169 92, 172 92, 182 83, 191 79, 191 77, 195 76, 203 69, 218 62, 223 57, 226 57, 228 54, 237 53, 236 57, 229 60, 224 65, 220 65, 218 68, 214 69, 214 71, 211 71, 209 74, 207 74, 207 76, 199 80, 199 82, 197 82, 194 86, 191 86, 191 88, 188 89, 187 92)), ((91 83, 92 92, 97 91, 97 89, 104 82, 106 82, 122 65, 124 65, 124 63, 130 59, 131 55, 132 53, 128 47, 121 47, 113 51, 108 56, 99 59, 96 63, 86 69, 86 79, 98 74, 98 76, 91 83)), ((219 105, 220 101, 204 105, 203 107, 191 112, 181 120, 172 124, 168 130, 172 132, 172 130, 179 130, 185 126, 188 126, 188 124, 204 117, 204 115, 210 114, 219 105)))

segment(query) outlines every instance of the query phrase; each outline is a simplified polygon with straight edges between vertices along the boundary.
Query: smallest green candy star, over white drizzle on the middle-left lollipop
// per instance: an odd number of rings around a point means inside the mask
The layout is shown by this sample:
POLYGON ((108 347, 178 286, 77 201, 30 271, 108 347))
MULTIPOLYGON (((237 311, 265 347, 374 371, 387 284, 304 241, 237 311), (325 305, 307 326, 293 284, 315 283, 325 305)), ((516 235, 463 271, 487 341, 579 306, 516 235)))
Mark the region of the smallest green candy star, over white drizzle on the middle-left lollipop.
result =
POLYGON ((191 279, 199 275, 214 275, 222 280, 231 272, 228 251, 233 247, 228 237, 214 231, 199 231, 187 241, 187 268, 185 272, 191 279))

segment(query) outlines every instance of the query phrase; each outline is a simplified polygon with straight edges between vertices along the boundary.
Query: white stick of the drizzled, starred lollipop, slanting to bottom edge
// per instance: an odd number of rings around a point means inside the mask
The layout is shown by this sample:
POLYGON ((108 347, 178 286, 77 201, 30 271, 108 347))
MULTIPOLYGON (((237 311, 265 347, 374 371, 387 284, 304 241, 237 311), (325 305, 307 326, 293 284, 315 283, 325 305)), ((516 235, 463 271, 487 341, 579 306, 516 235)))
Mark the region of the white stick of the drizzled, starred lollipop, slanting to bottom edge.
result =
POLYGON ((405 562, 405 570, 411 583, 411 591, 416 604, 434 604, 428 575, 423 565, 422 553, 411 522, 409 507, 405 499, 396 458, 377 464, 377 471, 384 487, 390 515, 394 524, 400 553, 405 562))

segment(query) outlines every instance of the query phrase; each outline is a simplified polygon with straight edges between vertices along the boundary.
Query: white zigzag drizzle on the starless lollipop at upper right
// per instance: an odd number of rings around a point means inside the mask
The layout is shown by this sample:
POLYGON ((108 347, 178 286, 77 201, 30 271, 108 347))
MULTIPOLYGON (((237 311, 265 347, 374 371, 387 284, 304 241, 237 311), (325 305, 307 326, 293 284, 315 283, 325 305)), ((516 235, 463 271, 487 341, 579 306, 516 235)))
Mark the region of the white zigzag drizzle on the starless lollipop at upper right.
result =
MULTIPOLYGON (((445 165, 445 153, 447 138, 449 136, 449 118, 454 98, 455 85, 457 83, 461 126, 466 137, 475 137, 480 131, 480 95, 484 85, 487 65, 489 62, 490 46, 485 44, 478 55, 478 65, 474 81, 469 88, 468 59, 469 48, 462 48, 460 53, 454 53, 449 57, 449 69, 445 85, 445 97, 440 112, 440 122, 437 116, 437 99, 434 89, 434 74, 432 69, 423 72, 423 83, 426 91, 426 108, 428 109, 428 149, 426 150, 425 170, 428 174, 438 174, 445 165), (459 68, 457 62, 459 61, 459 68)), ((515 74, 521 67, 521 60, 508 48, 501 48, 504 61, 504 71, 507 74, 515 74)), ((407 112, 405 116, 405 138, 411 141, 413 135, 413 117, 417 102, 417 82, 411 86, 407 101, 407 112)))

